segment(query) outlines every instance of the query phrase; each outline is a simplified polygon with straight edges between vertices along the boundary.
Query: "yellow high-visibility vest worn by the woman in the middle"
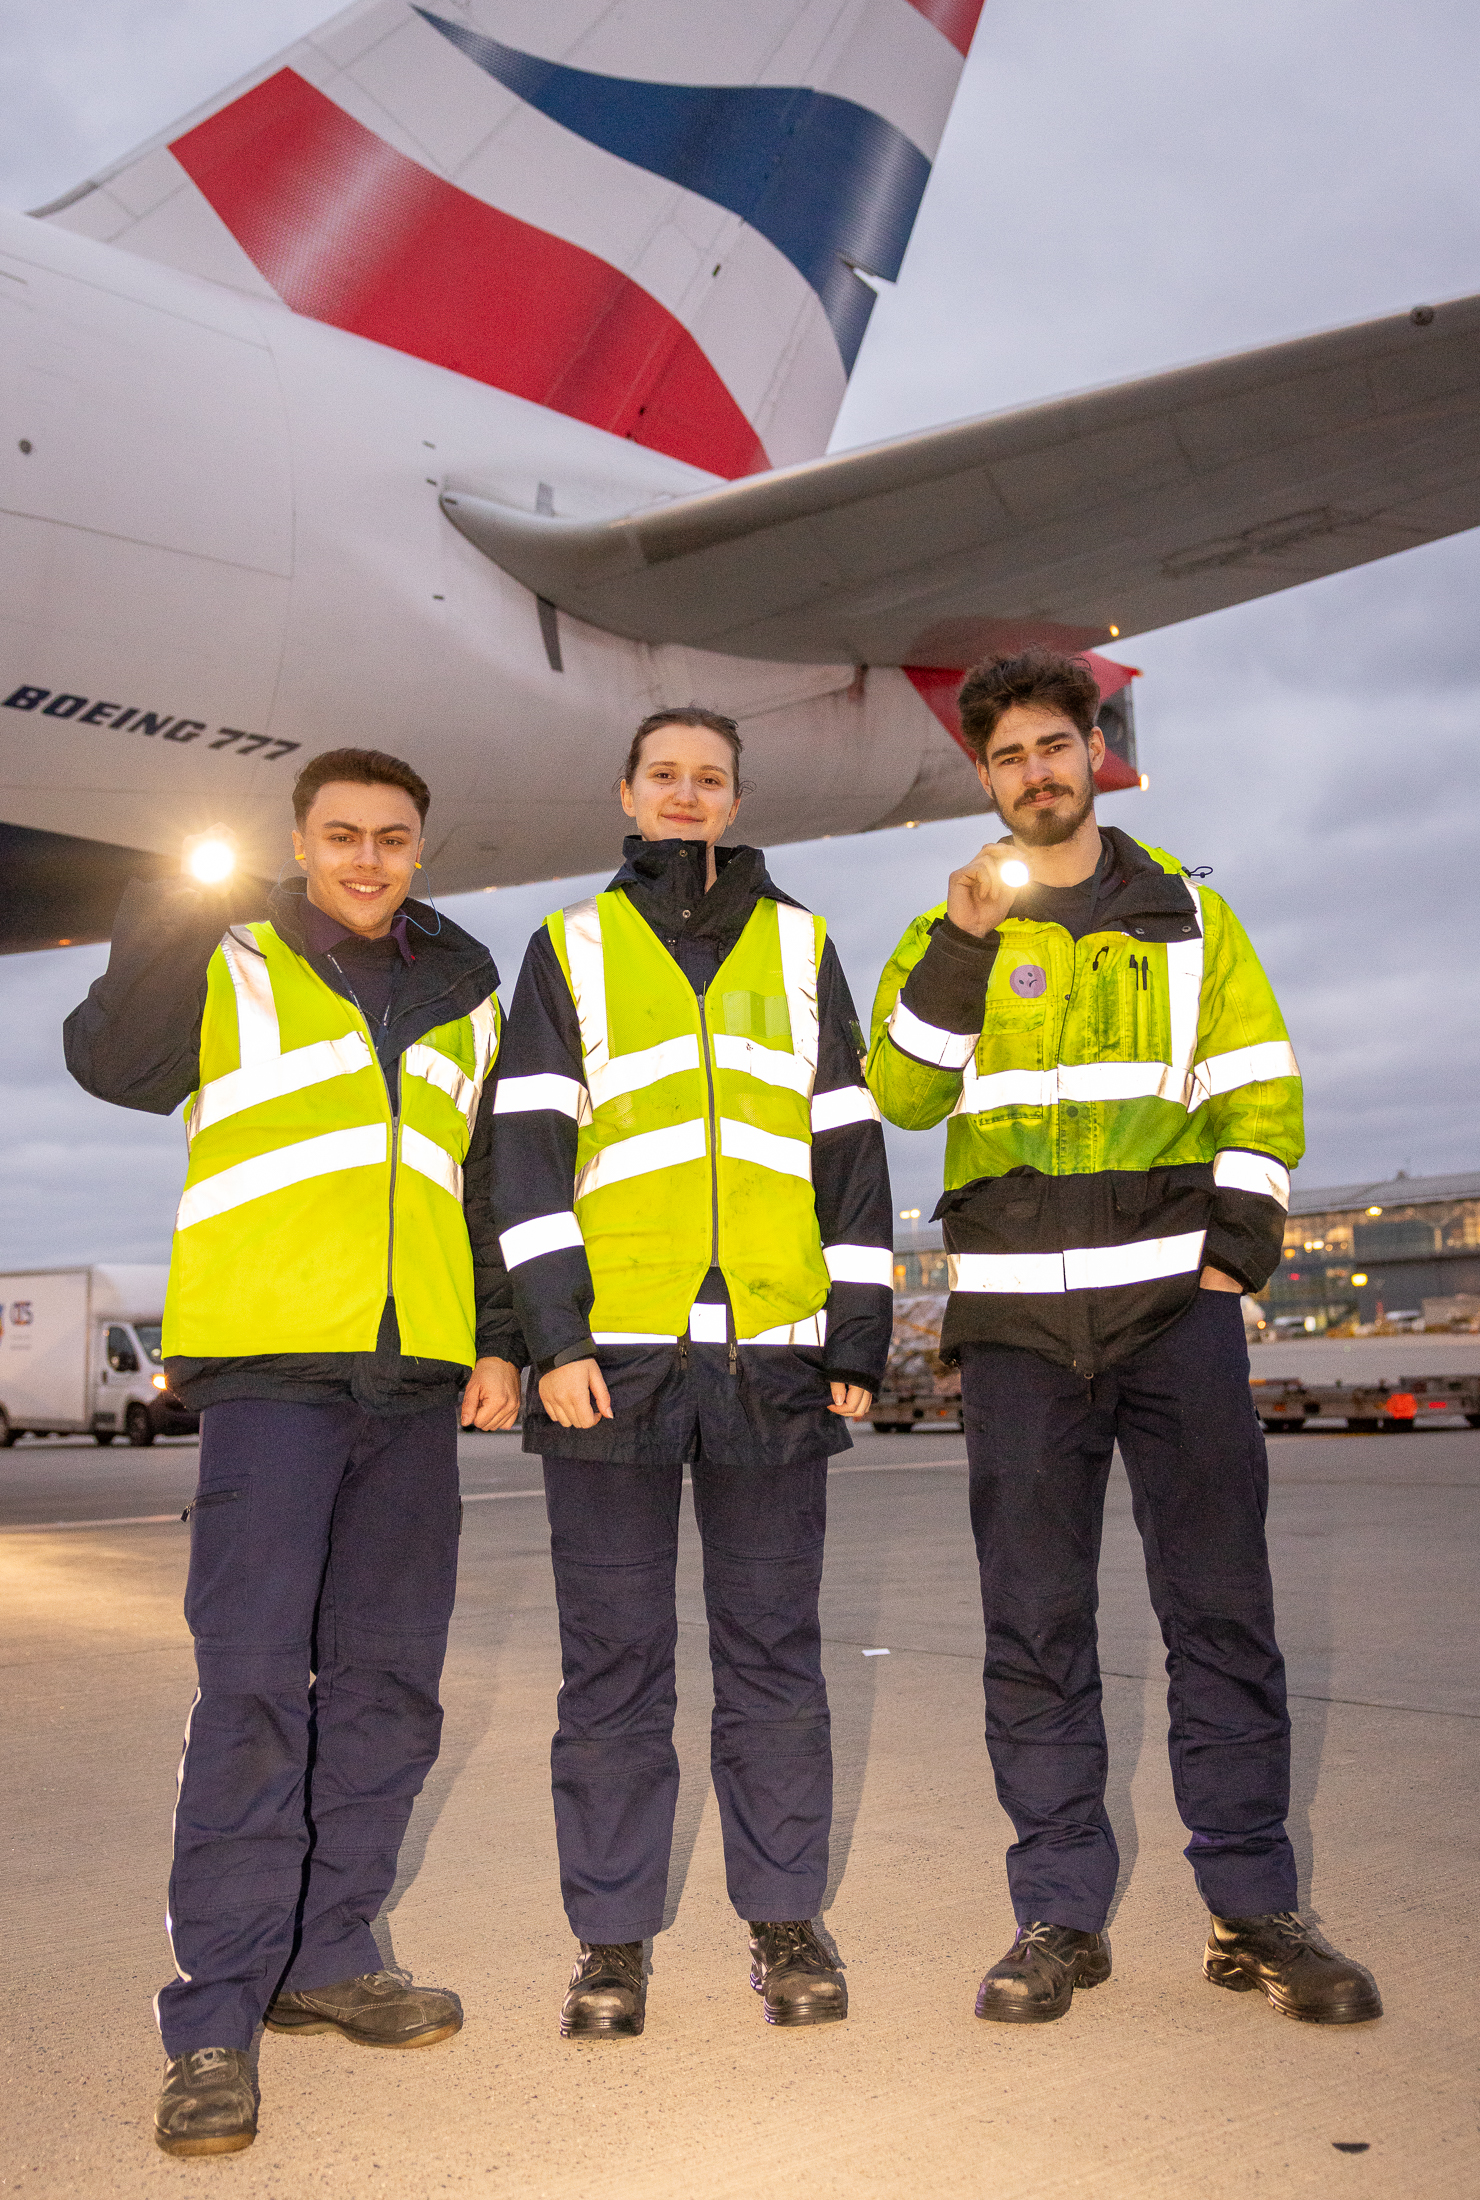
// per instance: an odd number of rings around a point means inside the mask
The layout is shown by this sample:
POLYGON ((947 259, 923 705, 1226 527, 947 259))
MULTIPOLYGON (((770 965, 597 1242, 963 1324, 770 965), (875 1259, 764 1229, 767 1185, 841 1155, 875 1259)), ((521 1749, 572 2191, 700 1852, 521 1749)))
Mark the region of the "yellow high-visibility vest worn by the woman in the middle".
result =
POLYGON ((820 1344, 820 917, 763 900, 699 1001, 625 893, 548 920, 581 1019, 574 1214, 596 1344, 666 1344, 719 1265, 735 1338, 820 1344))

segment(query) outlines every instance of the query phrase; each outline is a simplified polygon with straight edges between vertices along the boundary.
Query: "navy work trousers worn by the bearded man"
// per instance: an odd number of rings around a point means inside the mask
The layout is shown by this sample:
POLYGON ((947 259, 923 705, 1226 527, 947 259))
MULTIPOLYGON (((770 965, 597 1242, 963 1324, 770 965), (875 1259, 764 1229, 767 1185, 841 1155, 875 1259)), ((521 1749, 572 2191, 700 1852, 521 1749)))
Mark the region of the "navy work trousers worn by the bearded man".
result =
POLYGON ((1117 1441, 1166 1641, 1172 1786, 1199 1892, 1216 1916, 1293 1910, 1269 1465, 1238 1296, 1199 1291, 1093 1382, 1031 1351, 968 1344, 961 1397, 987 1749, 1018 1835, 1007 1850, 1018 1923, 1100 1932, 1115 1892, 1095 1610, 1117 1441))

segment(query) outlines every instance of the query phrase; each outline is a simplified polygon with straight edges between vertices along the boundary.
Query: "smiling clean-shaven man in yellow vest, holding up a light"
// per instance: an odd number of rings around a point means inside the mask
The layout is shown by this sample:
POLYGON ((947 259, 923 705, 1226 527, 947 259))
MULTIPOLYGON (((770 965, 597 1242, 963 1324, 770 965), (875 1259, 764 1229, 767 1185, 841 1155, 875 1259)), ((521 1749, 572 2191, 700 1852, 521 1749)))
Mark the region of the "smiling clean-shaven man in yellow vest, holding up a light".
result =
POLYGON ((400 759, 314 759, 306 878, 268 922, 233 924, 231 887, 134 882, 66 1023, 101 1100, 189 1098, 165 1371, 200 1408, 200 1685, 156 1998, 167 2154, 251 2145, 262 2017, 385 2048, 462 2024, 372 1934, 438 1756, 457 1397, 464 1426, 512 1426, 523 1362, 490 1203, 499 972, 409 900, 424 816, 400 759))

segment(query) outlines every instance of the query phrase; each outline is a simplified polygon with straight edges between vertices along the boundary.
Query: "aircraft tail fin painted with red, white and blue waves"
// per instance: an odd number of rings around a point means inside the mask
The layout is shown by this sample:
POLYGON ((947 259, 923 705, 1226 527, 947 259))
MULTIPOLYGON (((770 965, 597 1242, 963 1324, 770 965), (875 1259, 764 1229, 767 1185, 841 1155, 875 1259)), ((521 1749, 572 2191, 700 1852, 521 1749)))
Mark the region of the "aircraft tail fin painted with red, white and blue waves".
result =
POLYGON ((37 213, 756 473, 827 447, 979 13, 356 0, 37 213))

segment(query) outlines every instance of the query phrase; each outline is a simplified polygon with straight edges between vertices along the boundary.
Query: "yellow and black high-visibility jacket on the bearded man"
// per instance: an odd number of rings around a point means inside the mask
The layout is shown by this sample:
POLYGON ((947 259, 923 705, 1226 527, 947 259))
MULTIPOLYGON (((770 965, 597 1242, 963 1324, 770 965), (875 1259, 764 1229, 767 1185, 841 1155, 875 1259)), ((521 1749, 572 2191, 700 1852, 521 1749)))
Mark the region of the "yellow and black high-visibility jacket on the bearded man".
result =
POLYGON ((1280 1256, 1304 1133, 1269 979, 1221 895, 1106 838, 1122 891, 1078 942, 1005 917, 972 1030, 906 999, 943 906, 880 979, 869 1087, 906 1129, 948 1118, 943 1351, 1027 1344, 1093 1373, 1166 1329, 1205 1263, 1258 1289, 1280 1256))

